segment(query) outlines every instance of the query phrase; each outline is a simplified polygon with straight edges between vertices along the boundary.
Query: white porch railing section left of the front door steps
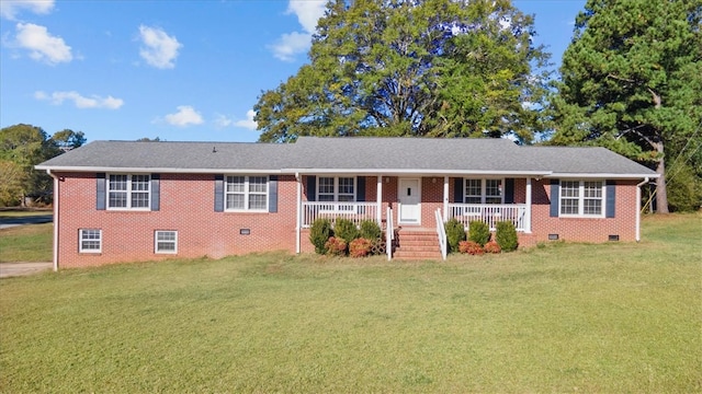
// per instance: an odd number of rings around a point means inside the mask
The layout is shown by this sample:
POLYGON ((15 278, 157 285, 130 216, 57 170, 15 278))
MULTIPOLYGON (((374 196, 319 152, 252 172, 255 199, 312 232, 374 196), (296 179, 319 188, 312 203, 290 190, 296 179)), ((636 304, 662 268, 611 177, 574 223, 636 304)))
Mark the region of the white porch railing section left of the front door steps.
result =
POLYGON ((333 223, 337 219, 349 219, 361 225, 364 220, 377 221, 377 202, 326 202, 303 201, 302 227, 308 229, 318 218, 326 218, 333 223))

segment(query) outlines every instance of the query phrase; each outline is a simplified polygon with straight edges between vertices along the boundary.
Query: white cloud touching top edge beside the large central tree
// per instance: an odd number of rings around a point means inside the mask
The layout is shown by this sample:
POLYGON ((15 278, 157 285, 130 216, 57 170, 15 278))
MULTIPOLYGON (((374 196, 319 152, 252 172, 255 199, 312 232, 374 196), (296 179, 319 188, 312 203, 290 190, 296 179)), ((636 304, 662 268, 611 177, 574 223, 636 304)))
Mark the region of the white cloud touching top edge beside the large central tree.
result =
POLYGON ((317 27, 317 21, 325 14, 324 0, 290 0, 287 13, 297 16, 303 32, 291 32, 281 35, 278 42, 270 46, 273 56, 284 61, 292 61, 298 54, 309 49, 312 35, 317 27))

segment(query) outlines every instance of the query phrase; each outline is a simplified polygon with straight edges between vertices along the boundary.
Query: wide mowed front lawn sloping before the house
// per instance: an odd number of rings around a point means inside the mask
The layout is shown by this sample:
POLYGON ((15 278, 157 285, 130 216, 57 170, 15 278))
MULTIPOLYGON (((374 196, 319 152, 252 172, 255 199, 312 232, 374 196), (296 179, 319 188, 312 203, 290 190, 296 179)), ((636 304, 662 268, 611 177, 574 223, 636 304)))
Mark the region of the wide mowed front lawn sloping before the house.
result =
POLYGON ((445 263, 280 254, 0 281, 0 392, 702 391, 702 216, 445 263))

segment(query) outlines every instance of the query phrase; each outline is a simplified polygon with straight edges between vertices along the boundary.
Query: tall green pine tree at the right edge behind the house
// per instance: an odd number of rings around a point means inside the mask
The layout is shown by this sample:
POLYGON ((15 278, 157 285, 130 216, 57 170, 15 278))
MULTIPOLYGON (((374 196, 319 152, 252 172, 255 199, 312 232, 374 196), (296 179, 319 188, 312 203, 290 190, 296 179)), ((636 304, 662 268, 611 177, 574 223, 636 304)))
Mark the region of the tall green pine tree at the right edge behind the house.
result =
POLYGON ((659 212, 667 159, 688 165, 702 139, 701 18, 700 0, 588 0, 552 101, 551 142, 599 144, 655 167, 659 212))

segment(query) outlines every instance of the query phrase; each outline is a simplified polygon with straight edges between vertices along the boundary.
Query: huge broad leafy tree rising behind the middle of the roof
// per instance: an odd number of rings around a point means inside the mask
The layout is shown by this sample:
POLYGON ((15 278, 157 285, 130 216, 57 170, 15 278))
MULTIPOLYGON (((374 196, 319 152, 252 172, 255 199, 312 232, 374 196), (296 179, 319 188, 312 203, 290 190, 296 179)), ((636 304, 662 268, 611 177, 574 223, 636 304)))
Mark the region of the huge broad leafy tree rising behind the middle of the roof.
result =
POLYGON ((332 0, 309 63, 254 106, 260 140, 509 134, 529 142, 547 77, 533 34, 532 18, 509 0, 332 0))

